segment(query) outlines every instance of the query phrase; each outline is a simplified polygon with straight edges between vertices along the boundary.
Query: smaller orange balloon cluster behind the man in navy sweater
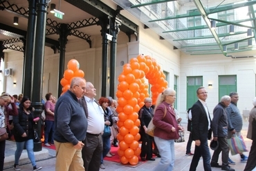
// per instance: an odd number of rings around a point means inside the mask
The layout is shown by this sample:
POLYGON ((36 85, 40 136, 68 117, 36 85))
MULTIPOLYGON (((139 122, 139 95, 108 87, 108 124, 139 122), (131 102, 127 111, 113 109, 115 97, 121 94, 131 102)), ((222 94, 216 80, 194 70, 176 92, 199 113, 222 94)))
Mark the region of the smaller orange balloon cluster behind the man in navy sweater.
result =
POLYGON ((63 78, 60 80, 62 85, 62 93, 66 92, 70 88, 73 77, 84 77, 84 72, 79 70, 79 63, 75 59, 68 61, 68 69, 64 71, 63 78))

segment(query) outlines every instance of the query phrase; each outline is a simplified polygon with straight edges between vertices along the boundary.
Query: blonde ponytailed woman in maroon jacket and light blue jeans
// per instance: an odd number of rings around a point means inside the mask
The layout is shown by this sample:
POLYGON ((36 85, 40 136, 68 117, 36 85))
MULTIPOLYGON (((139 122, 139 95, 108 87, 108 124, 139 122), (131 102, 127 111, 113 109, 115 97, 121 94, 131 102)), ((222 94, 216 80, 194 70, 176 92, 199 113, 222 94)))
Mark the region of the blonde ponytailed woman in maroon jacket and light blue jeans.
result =
POLYGON ((158 95, 153 123, 154 140, 161 155, 161 161, 154 170, 172 171, 174 168, 174 139, 179 138, 179 130, 183 128, 176 121, 176 114, 172 103, 176 99, 176 92, 171 88, 165 89, 158 95))

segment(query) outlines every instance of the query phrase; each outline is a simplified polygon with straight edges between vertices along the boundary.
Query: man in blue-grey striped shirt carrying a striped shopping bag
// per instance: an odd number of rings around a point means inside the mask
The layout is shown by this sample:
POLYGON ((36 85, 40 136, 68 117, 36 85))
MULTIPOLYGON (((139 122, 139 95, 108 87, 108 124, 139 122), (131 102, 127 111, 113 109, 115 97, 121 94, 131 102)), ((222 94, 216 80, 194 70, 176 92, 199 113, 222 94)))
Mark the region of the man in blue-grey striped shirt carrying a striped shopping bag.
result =
MULTIPOLYGON (((237 101, 239 96, 237 92, 230 92, 231 103, 226 108, 227 117, 228 117, 228 139, 231 139, 232 136, 240 136, 241 128, 243 127, 243 118, 241 117, 240 111, 237 108, 237 101)), ((248 157, 243 153, 240 154, 241 162, 246 163, 248 157)), ((235 162, 232 159, 228 158, 228 163, 230 165, 235 165, 235 162)))

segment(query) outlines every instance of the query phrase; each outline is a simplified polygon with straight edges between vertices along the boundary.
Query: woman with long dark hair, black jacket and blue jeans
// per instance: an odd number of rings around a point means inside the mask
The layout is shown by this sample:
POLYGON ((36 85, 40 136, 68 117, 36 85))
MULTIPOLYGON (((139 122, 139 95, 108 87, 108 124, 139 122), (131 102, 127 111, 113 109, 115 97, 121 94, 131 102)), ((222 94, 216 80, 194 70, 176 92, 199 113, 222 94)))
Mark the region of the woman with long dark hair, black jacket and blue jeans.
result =
POLYGON ((35 162, 34 154, 34 125, 39 121, 39 117, 34 118, 33 108, 31 106, 31 101, 28 97, 23 97, 19 104, 19 114, 13 117, 14 128, 12 130, 17 150, 15 151, 15 164, 13 165, 14 170, 21 170, 19 168, 19 158, 21 153, 26 147, 28 152, 28 158, 33 165, 33 170, 41 170, 42 167, 37 167, 35 162))

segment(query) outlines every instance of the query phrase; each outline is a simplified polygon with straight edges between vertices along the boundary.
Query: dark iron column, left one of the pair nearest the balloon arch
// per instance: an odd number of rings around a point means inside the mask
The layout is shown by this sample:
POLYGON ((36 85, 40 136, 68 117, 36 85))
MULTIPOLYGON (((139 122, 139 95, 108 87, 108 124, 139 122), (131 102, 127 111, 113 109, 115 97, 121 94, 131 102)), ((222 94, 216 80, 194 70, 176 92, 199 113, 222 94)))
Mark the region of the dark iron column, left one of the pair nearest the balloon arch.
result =
POLYGON ((101 96, 106 97, 107 94, 107 26, 109 25, 107 20, 100 19, 97 23, 101 26, 101 36, 102 36, 102 86, 101 86, 101 96))

